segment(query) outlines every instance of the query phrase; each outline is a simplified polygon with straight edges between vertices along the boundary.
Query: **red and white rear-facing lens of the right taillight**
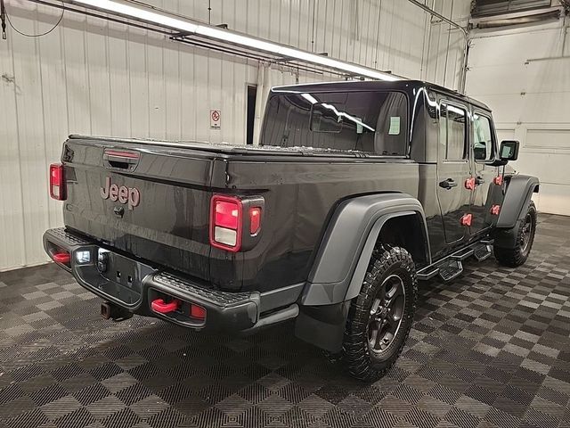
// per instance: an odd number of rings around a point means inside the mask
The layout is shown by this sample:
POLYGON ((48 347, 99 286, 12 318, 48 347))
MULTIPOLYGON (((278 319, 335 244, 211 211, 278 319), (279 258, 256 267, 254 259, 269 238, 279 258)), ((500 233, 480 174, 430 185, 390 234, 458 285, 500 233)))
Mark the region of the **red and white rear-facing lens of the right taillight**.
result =
POLYGON ((210 208, 210 243, 227 251, 240 251, 243 204, 232 196, 214 195, 210 208))

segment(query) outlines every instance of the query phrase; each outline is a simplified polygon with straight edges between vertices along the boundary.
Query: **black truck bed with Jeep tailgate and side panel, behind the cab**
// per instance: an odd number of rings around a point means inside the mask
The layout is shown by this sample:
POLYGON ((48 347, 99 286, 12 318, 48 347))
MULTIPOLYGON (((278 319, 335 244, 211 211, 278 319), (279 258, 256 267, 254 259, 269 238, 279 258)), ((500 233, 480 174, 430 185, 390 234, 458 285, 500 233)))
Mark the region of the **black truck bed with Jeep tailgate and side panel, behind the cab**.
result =
POLYGON ((362 152, 70 136, 61 160, 69 230, 227 291, 305 281, 330 214, 348 195, 383 188, 418 194, 417 163, 362 152), (137 189, 140 202, 103 199, 107 183, 137 189), (214 194, 265 199, 254 248, 233 253, 210 245, 214 194))

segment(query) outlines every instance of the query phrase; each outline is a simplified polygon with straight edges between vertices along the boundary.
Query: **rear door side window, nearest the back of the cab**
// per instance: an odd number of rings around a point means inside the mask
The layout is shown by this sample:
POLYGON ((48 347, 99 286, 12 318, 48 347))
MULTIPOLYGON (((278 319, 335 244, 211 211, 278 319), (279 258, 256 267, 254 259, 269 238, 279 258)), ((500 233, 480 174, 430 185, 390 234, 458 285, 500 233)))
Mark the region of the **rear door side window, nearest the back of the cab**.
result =
POLYGON ((467 159, 465 150, 467 111, 454 105, 441 103, 439 116, 440 157, 444 161, 467 159))

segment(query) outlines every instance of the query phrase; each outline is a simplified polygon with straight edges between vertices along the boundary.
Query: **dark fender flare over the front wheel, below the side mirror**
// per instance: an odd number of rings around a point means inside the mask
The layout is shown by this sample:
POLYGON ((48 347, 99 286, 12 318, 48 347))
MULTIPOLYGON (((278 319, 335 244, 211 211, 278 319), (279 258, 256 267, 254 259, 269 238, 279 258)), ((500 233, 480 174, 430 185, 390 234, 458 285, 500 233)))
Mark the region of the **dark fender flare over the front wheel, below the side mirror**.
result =
POLYGON ((516 175, 507 178, 505 199, 492 235, 495 246, 514 248, 517 243, 517 224, 525 216, 533 193, 538 193, 539 185, 537 177, 516 175))

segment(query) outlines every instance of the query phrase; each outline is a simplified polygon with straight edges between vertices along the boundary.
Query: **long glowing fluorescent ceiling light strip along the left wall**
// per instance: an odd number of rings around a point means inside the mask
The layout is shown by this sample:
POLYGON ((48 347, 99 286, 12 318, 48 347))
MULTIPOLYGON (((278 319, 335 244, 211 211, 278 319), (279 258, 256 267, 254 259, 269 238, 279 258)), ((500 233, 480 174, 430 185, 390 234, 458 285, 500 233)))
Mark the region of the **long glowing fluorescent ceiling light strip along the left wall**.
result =
POLYGON ((361 65, 357 65, 352 62, 342 62, 327 56, 296 49, 288 45, 280 45, 278 43, 269 42, 256 37, 249 37, 227 29, 219 29, 205 24, 191 22, 167 12, 154 10, 149 6, 144 6, 142 4, 126 3, 117 0, 72 0, 72 2, 86 7, 93 7, 105 12, 118 13, 119 15, 145 21, 151 24, 161 25, 168 29, 176 29, 184 33, 194 33, 214 40, 247 46, 259 51, 281 55, 284 58, 291 58, 298 61, 322 65, 323 67, 328 67, 330 69, 346 71, 363 78, 375 78, 387 81, 400 80, 400 78, 392 74, 384 73, 368 67, 362 67, 361 65))

